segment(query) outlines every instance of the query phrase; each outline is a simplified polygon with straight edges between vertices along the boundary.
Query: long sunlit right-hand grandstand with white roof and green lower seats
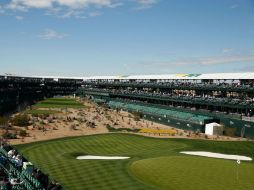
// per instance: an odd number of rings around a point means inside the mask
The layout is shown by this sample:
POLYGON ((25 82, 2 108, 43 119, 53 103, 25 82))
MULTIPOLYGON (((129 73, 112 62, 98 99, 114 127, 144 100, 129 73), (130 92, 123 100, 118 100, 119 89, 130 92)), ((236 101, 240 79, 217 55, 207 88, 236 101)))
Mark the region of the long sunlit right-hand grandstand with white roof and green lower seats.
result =
POLYGON ((254 137, 254 73, 87 77, 78 94, 178 128, 216 121, 254 137))

